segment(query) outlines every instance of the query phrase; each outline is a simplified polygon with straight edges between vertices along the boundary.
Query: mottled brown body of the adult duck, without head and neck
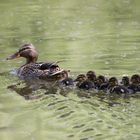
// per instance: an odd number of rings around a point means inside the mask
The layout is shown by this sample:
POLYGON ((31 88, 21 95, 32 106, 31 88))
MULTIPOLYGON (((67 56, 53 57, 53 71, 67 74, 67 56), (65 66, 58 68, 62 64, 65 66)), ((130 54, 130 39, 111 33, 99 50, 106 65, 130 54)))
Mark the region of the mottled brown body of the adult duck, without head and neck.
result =
POLYGON ((18 76, 21 79, 39 78, 43 80, 59 80, 63 74, 62 69, 57 69, 58 65, 54 63, 33 63, 22 66, 18 70, 18 76), (52 69, 54 68, 54 71, 52 69), (55 70, 56 69, 56 70, 55 70))

